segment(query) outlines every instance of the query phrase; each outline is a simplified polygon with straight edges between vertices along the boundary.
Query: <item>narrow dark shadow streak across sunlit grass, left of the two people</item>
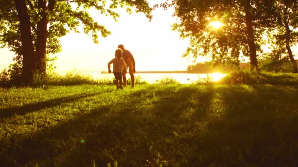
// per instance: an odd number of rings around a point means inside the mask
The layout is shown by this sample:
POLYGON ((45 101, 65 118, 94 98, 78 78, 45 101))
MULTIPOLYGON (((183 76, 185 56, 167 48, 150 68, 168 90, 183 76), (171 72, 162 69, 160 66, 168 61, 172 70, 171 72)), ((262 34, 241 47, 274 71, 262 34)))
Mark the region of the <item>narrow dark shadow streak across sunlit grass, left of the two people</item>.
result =
POLYGON ((101 93, 104 93, 104 92, 67 96, 67 97, 53 99, 53 100, 49 100, 49 101, 45 101, 45 102, 39 102, 36 104, 27 104, 27 105, 19 106, 19 107, 10 107, 10 108, 5 108, 5 109, 0 109, 0 118, 11 117, 15 114, 24 115, 26 113, 34 112, 34 111, 37 111, 37 110, 40 110, 40 109, 43 109, 46 107, 52 107, 52 106, 56 106, 56 105, 59 105, 62 103, 69 103, 72 101, 76 101, 78 99, 96 96, 101 93))

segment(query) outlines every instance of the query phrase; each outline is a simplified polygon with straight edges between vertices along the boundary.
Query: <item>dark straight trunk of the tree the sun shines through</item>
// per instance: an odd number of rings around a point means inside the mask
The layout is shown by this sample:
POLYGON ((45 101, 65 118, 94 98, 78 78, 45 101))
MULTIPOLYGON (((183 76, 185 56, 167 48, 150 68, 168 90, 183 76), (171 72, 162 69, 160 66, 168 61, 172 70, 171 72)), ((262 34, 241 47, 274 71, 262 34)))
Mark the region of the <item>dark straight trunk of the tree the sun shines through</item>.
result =
POLYGON ((250 58, 250 71, 254 68, 258 72, 258 62, 257 62, 257 53, 256 47, 254 43, 254 36, 253 36, 253 27, 252 27, 252 16, 251 16, 251 5, 248 0, 246 8, 245 8, 245 23, 247 28, 247 37, 248 37, 248 48, 249 48, 249 58, 250 58))

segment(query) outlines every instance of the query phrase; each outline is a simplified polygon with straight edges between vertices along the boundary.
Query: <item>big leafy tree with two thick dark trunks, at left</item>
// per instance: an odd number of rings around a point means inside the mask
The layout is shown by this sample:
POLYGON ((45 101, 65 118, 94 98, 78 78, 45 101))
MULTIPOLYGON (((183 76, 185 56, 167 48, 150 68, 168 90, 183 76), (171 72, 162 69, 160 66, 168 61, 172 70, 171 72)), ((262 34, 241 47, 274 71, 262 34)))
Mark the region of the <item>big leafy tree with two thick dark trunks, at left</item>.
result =
POLYGON ((152 18, 146 0, 0 0, 0 6, 0 43, 23 56, 25 83, 32 81, 34 72, 46 76, 47 54, 61 50, 59 38, 69 31, 78 32, 83 25, 84 33, 94 42, 98 42, 98 32, 103 37, 111 33, 94 21, 87 9, 117 20, 116 9, 126 6, 127 11, 134 8, 152 18))

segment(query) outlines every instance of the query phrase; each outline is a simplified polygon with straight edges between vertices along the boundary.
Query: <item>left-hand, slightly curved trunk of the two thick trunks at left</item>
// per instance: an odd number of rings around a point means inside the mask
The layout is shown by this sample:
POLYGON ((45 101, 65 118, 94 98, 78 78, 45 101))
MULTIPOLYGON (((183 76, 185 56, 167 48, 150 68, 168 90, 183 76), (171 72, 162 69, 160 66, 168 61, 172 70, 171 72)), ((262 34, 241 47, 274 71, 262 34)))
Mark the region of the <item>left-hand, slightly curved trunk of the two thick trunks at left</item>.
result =
POLYGON ((30 18, 27 13, 27 7, 25 0, 14 0, 16 9, 18 12, 18 18, 20 22, 20 33, 22 43, 22 55, 23 55, 23 73, 22 77, 25 84, 29 84, 33 79, 34 68, 34 47, 30 27, 30 18))

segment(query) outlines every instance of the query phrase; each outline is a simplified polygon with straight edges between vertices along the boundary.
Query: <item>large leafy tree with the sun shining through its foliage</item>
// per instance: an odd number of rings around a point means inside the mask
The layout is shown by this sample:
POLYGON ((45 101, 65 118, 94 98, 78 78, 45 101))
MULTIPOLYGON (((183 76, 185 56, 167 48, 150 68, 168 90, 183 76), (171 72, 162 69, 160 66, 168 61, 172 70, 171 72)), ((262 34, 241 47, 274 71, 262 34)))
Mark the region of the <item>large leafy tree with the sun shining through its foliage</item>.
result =
POLYGON ((162 6, 174 6, 179 22, 173 29, 190 39, 183 56, 211 55, 215 61, 239 63, 243 54, 250 58, 250 69, 258 71, 257 53, 262 52, 262 34, 273 11, 271 0, 173 0, 162 6), (212 21, 223 26, 212 29, 212 21))

